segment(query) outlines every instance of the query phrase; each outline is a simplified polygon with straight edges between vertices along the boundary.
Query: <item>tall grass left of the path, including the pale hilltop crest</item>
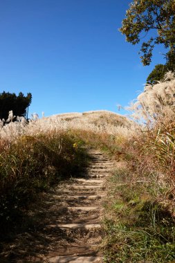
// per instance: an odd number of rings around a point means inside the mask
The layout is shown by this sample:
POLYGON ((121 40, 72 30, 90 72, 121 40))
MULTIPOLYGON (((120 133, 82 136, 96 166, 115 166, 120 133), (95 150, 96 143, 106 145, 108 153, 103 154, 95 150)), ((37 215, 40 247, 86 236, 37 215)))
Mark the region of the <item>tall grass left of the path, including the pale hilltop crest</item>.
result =
POLYGON ((21 221, 38 192, 81 172, 88 161, 84 143, 112 154, 116 134, 128 133, 131 126, 126 118, 103 111, 35 117, 12 122, 10 111, 8 125, 0 127, 1 231, 21 221))

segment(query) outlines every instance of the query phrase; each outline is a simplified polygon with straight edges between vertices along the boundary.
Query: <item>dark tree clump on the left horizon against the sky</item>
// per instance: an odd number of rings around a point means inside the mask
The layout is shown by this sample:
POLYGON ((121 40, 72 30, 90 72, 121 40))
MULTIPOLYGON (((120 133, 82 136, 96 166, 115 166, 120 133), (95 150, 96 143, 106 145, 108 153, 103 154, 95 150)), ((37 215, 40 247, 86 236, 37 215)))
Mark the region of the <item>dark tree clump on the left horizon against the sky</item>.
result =
POLYGON ((27 109, 32 102, 32 94, 25 97, 23 93, 17 96, 15 93, 3 91, 0 93, 0 119, 8 118, 8 112, 13 111, 15 116, 27 117, 27 109))

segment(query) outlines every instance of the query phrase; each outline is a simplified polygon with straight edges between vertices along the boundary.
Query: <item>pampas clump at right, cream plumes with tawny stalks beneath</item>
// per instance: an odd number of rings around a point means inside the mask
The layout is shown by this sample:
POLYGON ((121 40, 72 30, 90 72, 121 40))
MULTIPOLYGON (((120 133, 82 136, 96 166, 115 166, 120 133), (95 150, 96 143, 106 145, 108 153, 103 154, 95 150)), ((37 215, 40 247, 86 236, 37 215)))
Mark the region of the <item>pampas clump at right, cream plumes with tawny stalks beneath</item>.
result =
MULTIPOLYGON (((168 184, 175 196, 175 74, 169 71, 162 82, 146 84, 130 109, 139 123, 129 139, 134 169, 140 176, 154 174, 156 184, 168 184)), ((161 198, 166 202, 165 196, 161 198)))

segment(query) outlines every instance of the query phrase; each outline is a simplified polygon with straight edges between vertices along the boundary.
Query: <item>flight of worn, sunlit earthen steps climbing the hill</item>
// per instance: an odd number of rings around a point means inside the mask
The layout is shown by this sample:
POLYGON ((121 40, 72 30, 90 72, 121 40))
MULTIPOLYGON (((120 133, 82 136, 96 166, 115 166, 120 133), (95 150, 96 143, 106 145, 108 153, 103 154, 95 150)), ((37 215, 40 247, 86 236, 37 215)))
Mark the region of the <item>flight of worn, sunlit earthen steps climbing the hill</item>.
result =
MULTIPOLYGON (((102 255, 98 246, 103 230, 100 226, 102 198, 104 197, 105 177, 113 168, 113 161, 101 152, 89 150, 91 165, 84 178, 74 179, 63 190, 58 190, 57 199, 62 199, 66 209, 66 220, 59 217, 53 228, 62 229, 73 242, 59 246, 45 257, 50 263, 101 263, 102 255)), ((48 227, 48 226, 47 226, 48 227)))

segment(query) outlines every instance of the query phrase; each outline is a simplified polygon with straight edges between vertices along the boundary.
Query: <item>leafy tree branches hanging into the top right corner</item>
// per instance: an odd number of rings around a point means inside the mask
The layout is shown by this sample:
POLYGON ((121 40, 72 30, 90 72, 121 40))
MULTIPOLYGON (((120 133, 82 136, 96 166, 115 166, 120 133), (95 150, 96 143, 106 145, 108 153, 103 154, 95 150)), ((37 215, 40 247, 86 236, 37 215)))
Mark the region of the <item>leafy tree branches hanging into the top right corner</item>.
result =
POLYGON ((152 51, 156 44, 167 49, 165 58, 169 66, 175 61, 175 1, 174 0, 134 0, 122 21, 120 32, 127 42, 135 45, 142 39, 141 33, 152 36, 142 42, 140 52, 144 66, 151 63, 152 51), (155 32, 156 31, 156 32, 155 32), (156 33, 156 34, 155 34, 156 33), (153 37, 155 35, 155 37, 153 37))

